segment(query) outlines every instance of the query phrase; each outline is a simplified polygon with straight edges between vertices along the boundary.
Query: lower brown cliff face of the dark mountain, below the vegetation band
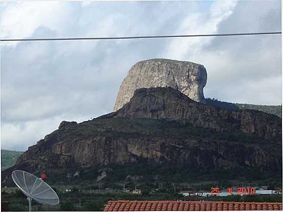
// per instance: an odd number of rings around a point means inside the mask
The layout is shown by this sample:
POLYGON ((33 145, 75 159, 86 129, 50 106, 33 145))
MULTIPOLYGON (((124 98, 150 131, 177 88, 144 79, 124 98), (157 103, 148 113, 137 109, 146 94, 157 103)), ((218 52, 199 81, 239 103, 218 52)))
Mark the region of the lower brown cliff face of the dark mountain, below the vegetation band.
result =
MULTIPOLYGON (((119 119, 119 123, 123 125, 123 120, 119 119)), ((169 128, 165 127, 164 130, 169 128)), ((241 166, 260 167, 262 171, 271 172, 278 171, 281 163, 280 146, 276 144, 260 147, 257 144, 216 140, 209 136, 182 138, 166 133, 139 136, 130 133, 126 136, 122 132, 116 132, 116 135, 109 132, 108 135, 93 134, 88 138, 77 135, 70 137, 70 140, 59 141, 62 131, 59 129, 46 141, 30 147, 15 167, 24 167, 33 172, 47 168, 88 168, 97 164, 146 160, 150 163, 187 164, 202 170, 241 166)))

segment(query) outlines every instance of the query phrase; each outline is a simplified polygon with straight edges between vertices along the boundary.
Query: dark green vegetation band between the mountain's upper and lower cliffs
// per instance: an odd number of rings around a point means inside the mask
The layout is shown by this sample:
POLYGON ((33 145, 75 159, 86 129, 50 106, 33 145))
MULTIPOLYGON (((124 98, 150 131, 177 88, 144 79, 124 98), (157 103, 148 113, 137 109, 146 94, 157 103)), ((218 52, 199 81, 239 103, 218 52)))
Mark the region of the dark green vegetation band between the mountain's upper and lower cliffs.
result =
MULTIPOLYGON (((67 132, 67 131, 66 131, 67 132)), ((155 120, 155 119, 93 119, 91 122, 84 122, 72 131, 68 131, 70 139, 79 135, 80 138, 92 136, 123 137, 123 138, 152 138, 166 137, 175 139, 197 139, 200 142, 212 141, 234 142, 253 146, 271 146, 263 138, 243 132, 220 132, 213 129, 194 127, 191 124, 181 124, 176 121, 155 120), (70 133, 71 132, 71 133, 70 133)))

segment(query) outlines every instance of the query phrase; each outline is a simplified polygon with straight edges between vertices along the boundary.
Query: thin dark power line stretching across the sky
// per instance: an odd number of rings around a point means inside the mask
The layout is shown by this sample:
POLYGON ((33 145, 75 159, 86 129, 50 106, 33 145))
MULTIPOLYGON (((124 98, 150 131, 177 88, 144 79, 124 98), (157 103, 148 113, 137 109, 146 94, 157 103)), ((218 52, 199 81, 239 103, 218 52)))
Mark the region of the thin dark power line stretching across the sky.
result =
POLYGON ((238 36, 238 35, 271 35, 271 34, 281 34, 281 32, 233 33, 233 34, 199 34, 199 35, 161 35, 161 36, 135 36, 135 37, 25 38, 25 39, 1 39, 0 41, 121 40, 121 39, 178 38, 178 37, 216 37, 216 36, 238 36))

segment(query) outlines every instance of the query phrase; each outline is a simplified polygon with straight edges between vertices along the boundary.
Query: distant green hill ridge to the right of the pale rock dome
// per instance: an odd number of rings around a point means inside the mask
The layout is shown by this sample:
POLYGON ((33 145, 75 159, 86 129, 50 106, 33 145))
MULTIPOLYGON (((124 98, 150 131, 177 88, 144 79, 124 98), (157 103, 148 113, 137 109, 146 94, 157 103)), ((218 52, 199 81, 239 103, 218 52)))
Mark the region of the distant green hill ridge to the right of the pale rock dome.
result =
POLYGON ((271 113, 282 117, 282 105, 252 105, 252 104, 240 104, 240 103, 231 103, 231 102, 222 102, 217 99, 206 98, 206 104, 222 107, 226 109, 250 109, 250 110, 258 110, 266 113, 271 113))

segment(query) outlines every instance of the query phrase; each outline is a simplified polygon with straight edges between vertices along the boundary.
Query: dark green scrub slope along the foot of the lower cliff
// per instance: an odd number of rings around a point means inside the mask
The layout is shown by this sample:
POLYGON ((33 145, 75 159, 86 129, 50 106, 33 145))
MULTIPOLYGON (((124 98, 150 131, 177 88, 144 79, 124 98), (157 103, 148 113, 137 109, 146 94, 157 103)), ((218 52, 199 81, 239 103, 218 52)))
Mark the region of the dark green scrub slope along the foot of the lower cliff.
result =
MULTIPOLYGON (((229 187, 232 182, 228 181, 262 181, 272 187, 279 187, 282 185, 281 172, 273 173, 261 172, 257 168, 241 167, 217 169, 217 170, 198 170, 197 168, 189 167, 188 165, 172 166, 169 163, 148 163, 146 161, 139 161, 137 163, 125 164, 103 164, 90 168, 77 169, 62 169, 52 170, 47 169, 46 173, 49 177, 50 183, 69 183, 79 184, 81 182, 89 182, 92 184, 92 189, 101 189, 111 187, 113 189, 121 189, 121 183, 125 183, 129 189, 135 189, 135 184, 138 183, 143 190, 153 189, 156 183, 163 182, 165 184, 171 183, 200 183, 204 181, 213 181, 219 185, 229 187), (106 171, 106 177, 97 181, 97 177, 101 175, 101 170, 106 171), (245 170, 243 172, 243 170, 245 170), (79 177, 72 177, 76 172, 81 173, 79 177), (67 174, 70 173, 70 178, 67 179, 67 174), (135 180, 132 180, 135 179, 135 180), (69 181, 68 181, 69 180, 69 181)), ((213 184, 202 186, 202 189, 210 189, 213 184)))

